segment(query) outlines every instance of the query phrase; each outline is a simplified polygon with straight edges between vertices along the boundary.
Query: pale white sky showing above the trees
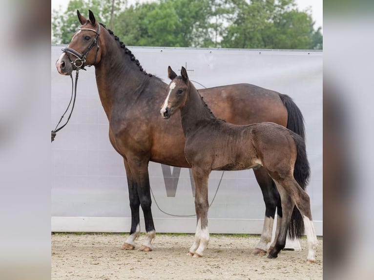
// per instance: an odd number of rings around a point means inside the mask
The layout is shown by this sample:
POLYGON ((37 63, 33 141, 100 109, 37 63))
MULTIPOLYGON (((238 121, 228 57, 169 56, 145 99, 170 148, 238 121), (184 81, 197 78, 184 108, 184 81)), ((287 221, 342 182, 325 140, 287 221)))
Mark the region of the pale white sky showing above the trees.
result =
MULTIPOLYGON (((136 2, 149 2, 150 0, 128 0, 128 4, 134 4, 136 2)), ((312 9, 312 18, 315 21, 314 28, 323 26, 323 0, 295 0, 299 10, 303 11, 308 7, 312 9)), ((59 9, 61 6, 66 9, 69 0, 51 0, 52 10, 59 9)))

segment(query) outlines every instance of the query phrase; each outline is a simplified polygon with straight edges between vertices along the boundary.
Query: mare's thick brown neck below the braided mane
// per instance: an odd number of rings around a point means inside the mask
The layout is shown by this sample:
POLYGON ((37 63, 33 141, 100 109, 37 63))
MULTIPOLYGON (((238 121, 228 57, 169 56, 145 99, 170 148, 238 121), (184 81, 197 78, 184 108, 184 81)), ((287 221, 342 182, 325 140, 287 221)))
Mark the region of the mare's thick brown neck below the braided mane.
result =
POLYGON ((105 38, 102 58, 95 67, 96 83, 105 113, 109 118, 114 104, 125 106, 142 90, 148 77, 139 66, 125 54, 125 50, 109 34, 105 38))

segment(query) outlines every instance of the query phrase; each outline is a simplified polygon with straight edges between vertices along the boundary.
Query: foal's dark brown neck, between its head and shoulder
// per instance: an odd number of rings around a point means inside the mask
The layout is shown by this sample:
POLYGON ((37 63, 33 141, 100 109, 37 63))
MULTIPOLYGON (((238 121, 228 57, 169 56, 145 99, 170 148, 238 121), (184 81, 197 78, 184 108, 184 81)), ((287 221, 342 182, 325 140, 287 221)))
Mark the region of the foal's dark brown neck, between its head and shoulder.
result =
POLYGON ((182 127, 185 134, 189 131, 193 131, 199 123, 214 119, 214 116, 210 113, 208 107, 191 82, 189 84, 186 103, 180 110, 182 127))

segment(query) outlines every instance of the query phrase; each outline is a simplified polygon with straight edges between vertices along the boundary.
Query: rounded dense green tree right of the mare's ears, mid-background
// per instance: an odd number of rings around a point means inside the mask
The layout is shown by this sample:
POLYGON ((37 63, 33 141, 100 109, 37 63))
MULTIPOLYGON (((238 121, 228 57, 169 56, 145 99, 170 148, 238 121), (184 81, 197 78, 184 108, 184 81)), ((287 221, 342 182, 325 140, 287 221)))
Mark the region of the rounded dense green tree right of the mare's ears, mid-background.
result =
POLYGON ((135 4, 118 17, 116 34, 129 45, 210 46, 212 0, 160 0, 135 4))

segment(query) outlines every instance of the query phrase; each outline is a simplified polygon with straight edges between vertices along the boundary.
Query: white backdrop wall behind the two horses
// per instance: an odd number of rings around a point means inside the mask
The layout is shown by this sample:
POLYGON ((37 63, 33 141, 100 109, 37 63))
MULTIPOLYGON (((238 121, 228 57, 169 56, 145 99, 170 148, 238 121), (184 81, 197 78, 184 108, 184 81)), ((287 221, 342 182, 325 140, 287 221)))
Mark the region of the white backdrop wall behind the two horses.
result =
MULTIPOLYGON (((55 61, 62 46, 52 46, 51 130, 71 94, 69 77, 58 74, 55 61)), ((247 82, 287 94, 304 115, 311 180, 312 216, 322 235, 322 52, 130 47, 143 68, 166 83, 167 66, 183 65, 191 80, 206 87, 247 82)), ((201 86, 195 83, 197 88, 201 86)), ((195 231, 194 198, 188 169, 150 162, 152 213, 156 232, 195 231), (168 171, 168 173, 166 172, 168 171), (174 177, 173 177, 174 175, 174 177), (166 192, 175 184, 176 191, 166 192), (157 202, 157 203, 156 203, 157 202), (165 214, 162 211, 168 213, 165 214), (173 215, 173 216, 172 216, 173 215)), ((209 202, 222 172, 212 172, 209 202)), ((96 87, 94 67, 81 71, 77 101, 69 124, 52 143, 52 231, 128 232, 130 207, 123 160, 108 139, 108 121, 96 87)), ((141 213, 142 215, 142 213, 141 213)), ((211 233, 262 230, 265 205, 251 170, 227 171, 209 209, 211 233)), ((142 227, 144 229, 144 226, 142 227)))

